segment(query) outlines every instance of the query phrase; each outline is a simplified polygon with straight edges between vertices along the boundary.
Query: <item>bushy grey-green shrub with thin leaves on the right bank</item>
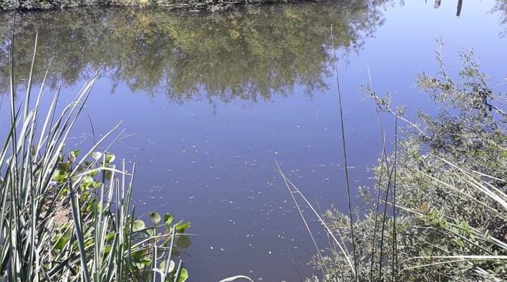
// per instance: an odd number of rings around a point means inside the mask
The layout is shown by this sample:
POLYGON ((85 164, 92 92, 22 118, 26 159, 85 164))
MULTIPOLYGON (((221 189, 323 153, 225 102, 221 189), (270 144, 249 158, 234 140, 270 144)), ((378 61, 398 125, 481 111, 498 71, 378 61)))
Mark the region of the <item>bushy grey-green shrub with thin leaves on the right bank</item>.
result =
POLYGON ((408 127, 394 153, 382 153, 375 188, 361 190, 370 208, 356 214, 353 242, 349 216, 326 212, 323 224, 339 239, 333 255, 315 257, 323 281, 507 279, 507 98, 489 87, 472 51, 460 56, 459 79, 440 54, 441 71, 418 77, 440 111, 418 113, 417 123, 368 87, 379 109, 408 127), (356 257, 346 249, 353 244, 356 257))

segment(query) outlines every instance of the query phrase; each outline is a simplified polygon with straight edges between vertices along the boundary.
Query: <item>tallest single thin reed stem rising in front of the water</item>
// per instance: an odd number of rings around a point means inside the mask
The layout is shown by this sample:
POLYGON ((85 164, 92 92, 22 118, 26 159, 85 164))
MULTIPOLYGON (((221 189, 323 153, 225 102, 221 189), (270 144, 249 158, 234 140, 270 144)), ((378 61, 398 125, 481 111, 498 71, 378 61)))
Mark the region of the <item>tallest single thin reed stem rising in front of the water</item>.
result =
POLYGON ((336 56, 336 49, 334 48, 334 36, 333 36, 333 32, 332 32, 332 25, 331 25, 330 30, 331 30, 331 43, 332 43, 333 57, 334 57, 334 59, 333 59, 334 75, 336 78, 337 90, 338 90, 340 125, 342 128, 342 145, 343 145, 343 154, 344 154, 345 184, 346 184, 347 201, 349 202, 349 219, 350 219, 351 243, 352 243, 352 253, 353 253, 353 273, 354 273, 354 276, 356 277, 356 281, 359 281, 359 277, 358 277, 358 273, 357 273, 356 240, 354 238, 352 204, 351 204, 350 185, 349 185, 349 167, 347 164, 347 155, 346 155, 345 127, 344 127, 344 117, 343 117, 343 109, 342 109, 342 92, 340 90, 340 85, 339 85, 337 56, 336 56))

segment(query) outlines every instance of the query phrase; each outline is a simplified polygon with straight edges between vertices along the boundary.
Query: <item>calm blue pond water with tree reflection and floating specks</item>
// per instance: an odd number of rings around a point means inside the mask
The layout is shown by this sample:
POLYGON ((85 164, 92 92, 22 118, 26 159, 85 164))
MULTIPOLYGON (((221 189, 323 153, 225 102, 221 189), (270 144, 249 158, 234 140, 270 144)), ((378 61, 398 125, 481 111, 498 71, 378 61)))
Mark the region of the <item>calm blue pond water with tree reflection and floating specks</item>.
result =
MULTIPOLYGON (((382 147, 375 105, 362 91, 370 79, 377 92, 392 92, 394 102, 406 104, 409 112, 436 111, 415 80, 418 73, 437 70, 436 39, 442 38, 451 72, 458 68, 457 52, 474 48, 494 87, 504 87, 496 83, 507 73, 507 2, 466 1, 461 11, 458 2, 322 1, 218 13, 96 7, 20 13, 15 82, 23 89, 35 30, 35 82, 42 81, 51 61, 47 98, 61 85, 62 99, 70 99, 101 71, 68 149, 90 146, 123 121, 125 133, 111 151, 137 164, 137 214, 170 212, 191 221, 194 235, 180 242, 189 254, 182 257, 190 281, 237 274, 301 281, 313 272, 315 248, 275 160, 320 209, 334 205, 346 211, 330 27, 356 195, 358 186, 370 185, 368 168, 382 147)), ((10 17, 0 13, 4 93, 10 17)), ((8 125, 5 102, 2 130, 8 125)), ((390 116, 380 122, 392 128, 390 116)), ((361 207, 361 200, 354 197, 353 205, 361 207)), ((325 234, 305 214, 325 249, 325 234)))

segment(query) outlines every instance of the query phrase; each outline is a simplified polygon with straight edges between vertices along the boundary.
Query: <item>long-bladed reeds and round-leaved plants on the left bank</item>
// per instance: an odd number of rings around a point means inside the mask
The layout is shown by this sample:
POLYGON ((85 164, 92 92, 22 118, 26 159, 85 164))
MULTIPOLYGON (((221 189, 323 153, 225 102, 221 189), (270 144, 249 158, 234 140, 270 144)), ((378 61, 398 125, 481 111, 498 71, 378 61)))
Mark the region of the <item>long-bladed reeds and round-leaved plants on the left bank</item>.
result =
POLYGON ((96 151, 118 125, 87 152, 63 154, 95 78, 61 113, 58 92, 41 109, 44 82, 34 94, 32 78, 24 102, 11 88, 11 126, 0 149, 0 280, 185 281, 173 244, 189 223, 173 223, 170 214, 163 221, 151 214, 150 226, 136 219, 134 167, 96 151))

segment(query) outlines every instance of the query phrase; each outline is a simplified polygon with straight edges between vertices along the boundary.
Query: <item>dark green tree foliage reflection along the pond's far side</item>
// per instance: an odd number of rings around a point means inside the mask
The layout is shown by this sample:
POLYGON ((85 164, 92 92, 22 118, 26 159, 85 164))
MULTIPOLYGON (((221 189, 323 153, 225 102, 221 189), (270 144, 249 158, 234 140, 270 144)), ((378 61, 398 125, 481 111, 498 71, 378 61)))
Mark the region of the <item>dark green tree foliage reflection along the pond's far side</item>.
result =
MULTIPOLYGON (((101 69, 132 90, 163 91, 175 102, 200 92, 225 102, 256 101, 259 95, 287 94, 294 85, 308 91, 325 87, 330 25, 340 47, 357 50, 382 23, 382 4, 325 2, 219 13, 122 8, 23 13, 15 60, 18 73, 27 73, 30 42, 39 30, 35 73, 44 73, 50 59, 52 69, 63 70, 52 75, 52 85, 71 85, 101 69)), ((0 17, 0 85, 5 87, 9 16, 0 17)))

